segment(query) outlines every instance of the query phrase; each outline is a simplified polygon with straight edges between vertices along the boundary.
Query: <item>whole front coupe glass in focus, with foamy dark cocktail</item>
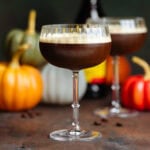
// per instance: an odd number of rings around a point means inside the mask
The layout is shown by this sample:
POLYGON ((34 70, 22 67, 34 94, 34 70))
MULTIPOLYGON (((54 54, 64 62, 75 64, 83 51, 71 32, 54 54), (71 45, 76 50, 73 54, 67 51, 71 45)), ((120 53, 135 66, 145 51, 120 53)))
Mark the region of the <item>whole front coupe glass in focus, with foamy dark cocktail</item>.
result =
MULTIPOLYGON (((109 55, 111 36, 108 26, 100 24, 44 25, 40 34, 40 51, 45 59, 72 71, 73 122, 70 129, 50 133, 58 141, 91 141, 100 138, 98 131, 88 131, 79 124, 78 72, 100 64, 109 55)), ((59 84, 59 83, 58 83, 59 84)), ((66 85, 67 86, 67 85, 66 85)))

